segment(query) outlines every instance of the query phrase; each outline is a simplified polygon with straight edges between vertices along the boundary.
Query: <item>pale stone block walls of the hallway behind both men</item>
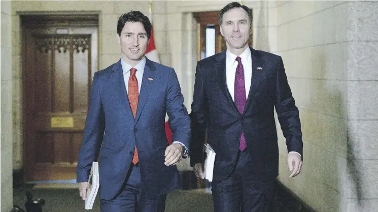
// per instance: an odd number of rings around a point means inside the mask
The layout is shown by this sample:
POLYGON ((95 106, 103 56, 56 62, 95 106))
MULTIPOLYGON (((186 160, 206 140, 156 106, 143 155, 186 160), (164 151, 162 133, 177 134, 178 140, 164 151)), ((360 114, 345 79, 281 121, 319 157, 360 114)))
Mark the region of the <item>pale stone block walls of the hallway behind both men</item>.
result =
MULTIPOLYGON (((175 68, 190 112, 196 55, 193 12, 231 1, 153 1, 155 45, 175 68)), ((148 1, 1 1, 1 211, 13 205, 23 168, 20 16, 98 14, 99 69, 120 57, 116 22, 148 1)), ((378 2, 243 1, 253 9, 254 48, 283 57, 300 112, 303 170, 289 179, 280 126, 280 182, 315 211, 378 208, 378 2)), ((27 154, 27 153, 26 153, 27 154)), ((188 161, 181 170, 190 169, 188 161)))

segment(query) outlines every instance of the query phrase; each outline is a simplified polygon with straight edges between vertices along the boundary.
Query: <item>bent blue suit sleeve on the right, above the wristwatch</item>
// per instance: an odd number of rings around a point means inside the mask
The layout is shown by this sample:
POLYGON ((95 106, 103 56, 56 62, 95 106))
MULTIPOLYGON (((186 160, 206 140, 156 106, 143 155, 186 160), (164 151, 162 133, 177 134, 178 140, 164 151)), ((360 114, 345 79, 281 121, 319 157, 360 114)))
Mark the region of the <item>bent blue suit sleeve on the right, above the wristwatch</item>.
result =
POLYGON ((166 97, 169 128, 173 133, 172 141, 179 141, 188 148, 190 142, 190 118, 184 106, 184 97, 181 94, 180 83, 174 69, 169 72, 166 97))

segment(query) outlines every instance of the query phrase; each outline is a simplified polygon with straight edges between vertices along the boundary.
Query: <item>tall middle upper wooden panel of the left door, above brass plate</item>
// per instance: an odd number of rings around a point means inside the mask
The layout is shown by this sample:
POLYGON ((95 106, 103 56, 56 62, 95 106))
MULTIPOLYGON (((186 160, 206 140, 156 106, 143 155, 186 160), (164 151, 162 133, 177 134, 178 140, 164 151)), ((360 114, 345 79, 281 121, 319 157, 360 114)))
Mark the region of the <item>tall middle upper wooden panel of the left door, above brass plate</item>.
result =
POLYGON ((70 51, 55 50, 54 112, 70 111, 70 51))

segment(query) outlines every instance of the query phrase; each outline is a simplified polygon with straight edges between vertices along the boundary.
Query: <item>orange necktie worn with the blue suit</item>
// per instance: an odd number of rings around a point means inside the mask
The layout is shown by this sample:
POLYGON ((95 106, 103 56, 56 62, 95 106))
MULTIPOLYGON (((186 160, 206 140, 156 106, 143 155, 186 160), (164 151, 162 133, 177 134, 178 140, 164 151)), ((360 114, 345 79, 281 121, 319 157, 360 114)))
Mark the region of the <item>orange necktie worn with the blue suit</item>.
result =
MULTIPOLYGON (((128 85, 128 98, 130 102, 130 107, 132 111, 132 115, 136 116, 136 107, 138 106, 138 99, 139 99, 139 94, 138 94, 138 79, 136 79, 135 72, 137 70, 135 68, 130 69, 130 78, 129 78, 129 85, 128 85)), ((132 157, 132 163, 137 164, 139 161, 138 158, 138 151, 136 150, 136 145, 134 149, 134 155, 132 157)))

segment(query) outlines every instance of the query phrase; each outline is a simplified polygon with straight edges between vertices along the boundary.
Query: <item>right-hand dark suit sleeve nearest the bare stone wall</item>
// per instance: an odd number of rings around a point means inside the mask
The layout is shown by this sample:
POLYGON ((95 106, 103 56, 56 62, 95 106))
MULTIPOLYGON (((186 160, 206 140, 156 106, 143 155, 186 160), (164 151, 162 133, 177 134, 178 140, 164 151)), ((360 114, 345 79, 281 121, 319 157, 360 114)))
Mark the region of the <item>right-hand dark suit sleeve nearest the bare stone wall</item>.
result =
POLYGON ((282 132, 286 138, 288 152, 297 152, 303 160, 302 132, 300 129, 299 111, 286 77, 284 63, 280 56, 277 67, 276 111, 282 132))

